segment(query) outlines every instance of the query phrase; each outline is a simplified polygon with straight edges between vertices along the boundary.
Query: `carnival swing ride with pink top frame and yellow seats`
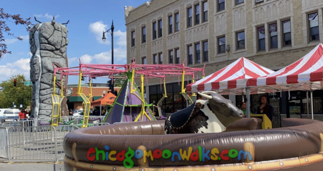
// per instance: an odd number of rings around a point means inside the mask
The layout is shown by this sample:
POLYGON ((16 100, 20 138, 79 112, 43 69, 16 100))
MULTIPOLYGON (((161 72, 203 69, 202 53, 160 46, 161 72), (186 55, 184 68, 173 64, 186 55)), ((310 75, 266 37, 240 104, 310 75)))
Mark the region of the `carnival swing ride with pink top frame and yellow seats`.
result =
MULTIPOLYGON (((133 60, 135 61, 135 60, 133 60)), ((192 93, 189 96, 185 92, 185 75, 192 78, 198 79, 198 74, 202 75, 204 78, 204 67, 203 68, 189 68, 185 67, 183 64, 156 64, 156 65, 137 65, 135 62, 126 65, 109 65, 109 64, 82 64, 78 67, 71 68, 56 68, 54 69, 53 80, 56 80, 56 76, 60 75, 61 80, 63 76, 78 76, 78 92, 77 94, 83 99, 83 124, 82 128, 86 128, 89 121, 89 111, 90 111, 90 98, 92 97, 92 87, 91 80, 96 77, 107 77, 113 80, 113 78, 125 79, 123 86, 120 89, 114 103, 111 106, 109 112, 106 113, 104 117, 104 123, 114 124, 121 122, 137 122, 137 121, 152 121, 156 120, 150 106, 153 104, 147 104, 144 99, 144 79, 146 82, 150 78, 160 79, 160 89, 161 82, 164 85, 163 97, 157 102, 158 113, 160 116, 160 106, 165 98, 167 98, 167 90, 165 81, 169 77, 178 77, 180 83, 181 80, 181 93, 183 98, 186 100, 187 105, 192 104, 196 99, 196 94, 192 93), (126 77, 118 77, 121 74, 126 74, 126 77), (140 75, 140 76, 138 76, 140 75), (86 96, 81 89, 81 81, 88 78, 90 85, 89 96, 86 96), (140 91, 135 84, 135 79, 140 79, 141 86, 140 91), (163 80, 163 81, 161 81, 163 80)), ((187 79, 188 80, 188 79, 187 79)), ((55 89, 55 88, 54 88, 55 89)), ((53 91, 55 92, 55 91, 53 91)), ((63 90, 62 90, 63 92, 63 90)), ((58 121, 61 116, 61 103, 64 98, 64 94, 61 96, 52 94, 52 126, 57 126, 58 121)))

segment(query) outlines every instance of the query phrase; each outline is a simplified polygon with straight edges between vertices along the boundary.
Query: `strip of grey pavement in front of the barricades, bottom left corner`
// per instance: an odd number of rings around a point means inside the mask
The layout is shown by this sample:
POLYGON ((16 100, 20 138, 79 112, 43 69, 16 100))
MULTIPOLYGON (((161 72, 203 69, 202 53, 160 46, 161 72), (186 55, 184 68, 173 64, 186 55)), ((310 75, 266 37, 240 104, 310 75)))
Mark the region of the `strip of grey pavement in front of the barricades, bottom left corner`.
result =
POLYGON ((0 163, 1 171, 62 171, 64 170, 63 163, 58 164, 43 164, 43 163, 0 163))

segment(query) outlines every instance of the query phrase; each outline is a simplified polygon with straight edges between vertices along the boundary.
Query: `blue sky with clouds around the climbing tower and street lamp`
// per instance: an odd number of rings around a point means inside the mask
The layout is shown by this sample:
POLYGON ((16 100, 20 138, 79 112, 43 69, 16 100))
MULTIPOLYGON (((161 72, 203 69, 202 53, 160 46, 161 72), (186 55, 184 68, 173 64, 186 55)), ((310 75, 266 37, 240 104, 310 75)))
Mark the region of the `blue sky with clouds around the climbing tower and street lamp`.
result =
MULTIPOLYGON (((3 0, 4 1, 4 0, 3 0)), ((111 34, 105 34, 106 41, 102 41, 102 32, 110 29, 114 21, 114 63, 126 64, 126 26, 124 17, 125 6, 138 7, 145 3, 143 0, 10 0, 1 3, 5 13, 20 14, 22 18, 31 17, 33 24, 37 22, 50 22, 55 16, 55 21, 66 23, 68 28, 69 45, 67 56, 69 67, 79 65, 79 59, 84 64, 111 64, 111 34)), ((29 33, 21 25, 14 25, 7 21, 11 32, 23 38, 22 41, 15 37, 5 35, 7 50, 0 60, 0 82, 8 80, 11 76, 23 74, 30 79, 30 58, 32 54, 29 47, 29 33)), ((106 83, 106 78, 97 78, 93 83, 106 83)), ((68 84, 77 84, 78 78, 70 76, 68 84)), ((83 82, 82 82, 83 83, 83 82)), ((85 82, 84 82, 85 83, 85 82)))

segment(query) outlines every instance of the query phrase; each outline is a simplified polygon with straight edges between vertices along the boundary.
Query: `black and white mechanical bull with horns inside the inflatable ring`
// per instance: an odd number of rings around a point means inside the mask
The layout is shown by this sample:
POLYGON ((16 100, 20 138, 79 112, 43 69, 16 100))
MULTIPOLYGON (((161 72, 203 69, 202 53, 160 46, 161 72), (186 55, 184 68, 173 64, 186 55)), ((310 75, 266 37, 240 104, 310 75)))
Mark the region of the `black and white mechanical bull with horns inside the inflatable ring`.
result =
POLYGON ((207 100, 196 100, 173 113, 166 121, 167 134, 224 132, 229 124, 243 117, 243 111, 222 95, 213 91, 199 94, 207 100))

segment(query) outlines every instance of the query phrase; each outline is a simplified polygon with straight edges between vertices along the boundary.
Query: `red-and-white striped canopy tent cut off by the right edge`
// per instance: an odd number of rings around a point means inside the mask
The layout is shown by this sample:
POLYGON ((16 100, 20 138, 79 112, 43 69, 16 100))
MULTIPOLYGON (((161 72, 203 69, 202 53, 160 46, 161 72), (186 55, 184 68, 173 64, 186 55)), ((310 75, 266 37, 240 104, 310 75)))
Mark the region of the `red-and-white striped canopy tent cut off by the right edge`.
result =
POLYGON ((322 89, 323 44, 318 44, 303 58, 274 73, 248 79, 248 86, 276 91, 322 89))

